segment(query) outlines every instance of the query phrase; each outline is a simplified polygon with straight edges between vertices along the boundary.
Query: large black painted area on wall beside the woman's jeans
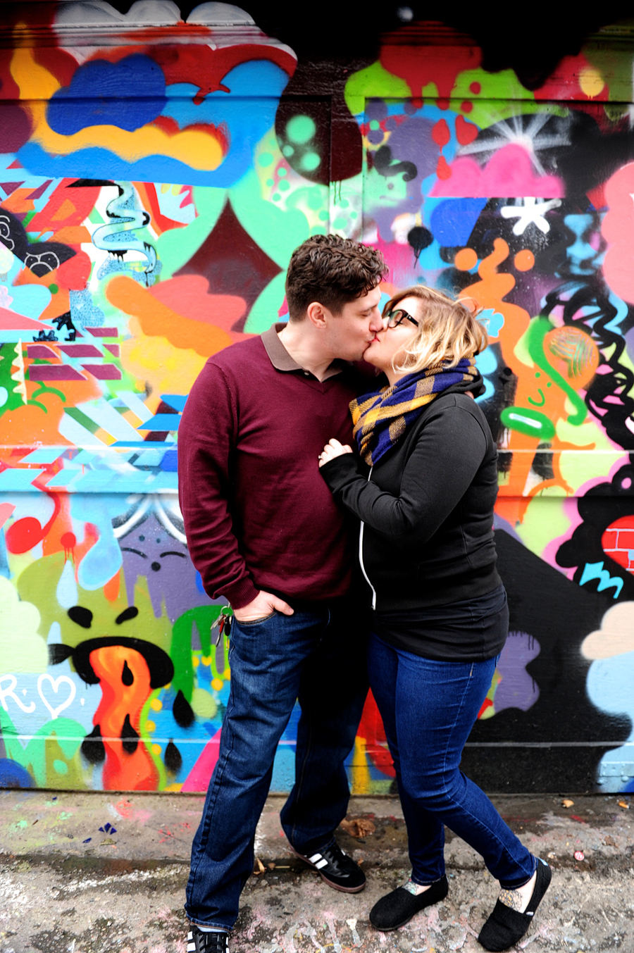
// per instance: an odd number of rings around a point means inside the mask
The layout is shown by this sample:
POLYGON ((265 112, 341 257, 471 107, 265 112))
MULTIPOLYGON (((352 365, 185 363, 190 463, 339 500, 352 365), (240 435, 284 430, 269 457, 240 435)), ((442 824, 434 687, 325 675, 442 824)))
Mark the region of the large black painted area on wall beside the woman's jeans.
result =
POLYGON ((587 698, 590 661, 581 645, 601 628, 614 600, 609 593, 581 589, 503 531, 496 533, 496 546, 510 628, 527 632, 541 646, 527 665, 540 697, 525 712, 506 708, 477 721, 462 771, 487 792, 596 790, 599 761, 615 746, 606 740, 625 740, 630 726, 628 718, 608 716, 587 698), (486 746, 470 746, 474 742, 486 746))

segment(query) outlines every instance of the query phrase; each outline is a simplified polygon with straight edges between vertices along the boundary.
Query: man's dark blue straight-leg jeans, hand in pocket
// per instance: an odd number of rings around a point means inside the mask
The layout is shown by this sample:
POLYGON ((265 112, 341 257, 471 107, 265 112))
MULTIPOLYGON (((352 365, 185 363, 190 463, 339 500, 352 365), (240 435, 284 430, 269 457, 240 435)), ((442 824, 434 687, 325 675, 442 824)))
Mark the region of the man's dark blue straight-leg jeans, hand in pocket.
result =
POLYGON ((284 832, 310 856, 333 841, 347 811, 344 761, 367 695, 367 628, 347 599, 294 606, 293 616, 232 625, 231 691, 187 884, 193 923, 235 923, 277 742, 296 699, 296 781, 281 811, 284 832))

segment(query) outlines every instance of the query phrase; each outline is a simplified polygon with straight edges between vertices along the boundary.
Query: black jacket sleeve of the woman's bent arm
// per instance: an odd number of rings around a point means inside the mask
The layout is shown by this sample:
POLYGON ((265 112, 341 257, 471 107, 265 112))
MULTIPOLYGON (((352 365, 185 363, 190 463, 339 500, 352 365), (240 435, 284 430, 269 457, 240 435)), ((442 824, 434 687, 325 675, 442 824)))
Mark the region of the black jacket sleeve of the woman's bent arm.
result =
MULTIPOLYGON (((398 445, 397 445, 398 447, 398 445)), ((358 472, 355 456, 337 456, 320 469, 338 502, 395 544, 424 543, 460 502, 476 476, 487 441, 478 420, 460 406, 439 408, 421 428, 398 497, 358 472)))

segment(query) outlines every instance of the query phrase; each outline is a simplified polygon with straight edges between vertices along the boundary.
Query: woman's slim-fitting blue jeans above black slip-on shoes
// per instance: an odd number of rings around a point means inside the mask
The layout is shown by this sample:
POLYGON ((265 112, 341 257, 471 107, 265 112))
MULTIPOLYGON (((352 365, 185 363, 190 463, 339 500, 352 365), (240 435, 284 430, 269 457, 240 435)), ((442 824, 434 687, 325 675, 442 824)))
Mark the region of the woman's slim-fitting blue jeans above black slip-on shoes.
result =
POLYGON ((522 886, 535 872, 535 858, 460 771, 497 660, 423 659, 370 638, 370 687, 397 772, 415 883, 443 876, 445 824, 481 854, 502 887, 522 886))

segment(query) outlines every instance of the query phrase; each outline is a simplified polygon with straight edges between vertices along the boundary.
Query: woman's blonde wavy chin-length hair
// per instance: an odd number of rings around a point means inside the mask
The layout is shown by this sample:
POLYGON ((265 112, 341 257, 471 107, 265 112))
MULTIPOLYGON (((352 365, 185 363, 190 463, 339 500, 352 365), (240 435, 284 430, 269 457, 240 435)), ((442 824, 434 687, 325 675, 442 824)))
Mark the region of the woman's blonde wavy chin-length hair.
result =
POLYGON ((455 301, 447 294, 426 285, 403 288, 387 302, 383 315, 399 307, 399 301, 416 297, 422 305, 422 315, 413 314, 419 321, 412 340, 403 348, 404 360, 395 371, 414 374, 424 368, 455 367, 462 357, 481 354, 489 343, 486 329, 478 320, 481 308, 471 298, 455 301))

